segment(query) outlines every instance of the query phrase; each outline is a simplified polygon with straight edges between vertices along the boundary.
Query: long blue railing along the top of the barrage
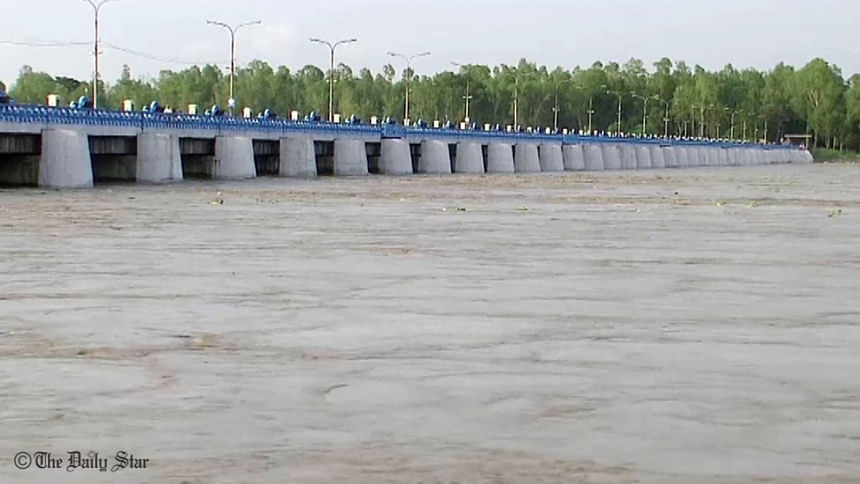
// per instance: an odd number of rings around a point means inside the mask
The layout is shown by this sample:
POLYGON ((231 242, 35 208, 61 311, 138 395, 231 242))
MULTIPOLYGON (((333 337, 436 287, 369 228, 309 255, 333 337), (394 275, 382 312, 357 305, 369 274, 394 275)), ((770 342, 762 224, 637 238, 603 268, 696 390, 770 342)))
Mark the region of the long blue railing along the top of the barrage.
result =
POLYGON ((101 126, 151 129, 199 130, 217 132, 262 132, 270 134, 351 135, 380 138, 433 138, 447 141, 530 143, 614 143, 653 144, 660 146, 710 146, 721 148, 758 147, 767 150, 798 149, 797 146, 761 145, 728 140, 696 140, 666 138, 629 138, 614 136, 582 136, 575 134, 545 134, 508 131, 485 131, 452 128, 406 127, 396 124, 339 124, 326 121, 289 121, 285 119, 237 118, 231 116, 200 116, 184 113, 150 113, 76 109, 66 107, 0 105, 0 122, 18 124, 101 126))

